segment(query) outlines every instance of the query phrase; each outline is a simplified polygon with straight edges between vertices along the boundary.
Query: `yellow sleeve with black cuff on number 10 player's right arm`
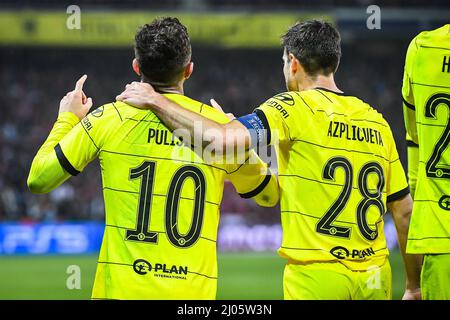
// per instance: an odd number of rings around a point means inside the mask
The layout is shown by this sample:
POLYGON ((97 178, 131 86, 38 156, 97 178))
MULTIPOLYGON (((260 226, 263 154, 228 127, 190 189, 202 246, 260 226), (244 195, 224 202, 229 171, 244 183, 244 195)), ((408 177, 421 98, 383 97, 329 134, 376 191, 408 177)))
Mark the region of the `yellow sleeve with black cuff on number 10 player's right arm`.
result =
POLYGON ((243 164, 228 173, 227 178, 242 198, 252 198, 265 207, 274 206, 278 202, 276 176, 253 150, 249 151, 243 164))

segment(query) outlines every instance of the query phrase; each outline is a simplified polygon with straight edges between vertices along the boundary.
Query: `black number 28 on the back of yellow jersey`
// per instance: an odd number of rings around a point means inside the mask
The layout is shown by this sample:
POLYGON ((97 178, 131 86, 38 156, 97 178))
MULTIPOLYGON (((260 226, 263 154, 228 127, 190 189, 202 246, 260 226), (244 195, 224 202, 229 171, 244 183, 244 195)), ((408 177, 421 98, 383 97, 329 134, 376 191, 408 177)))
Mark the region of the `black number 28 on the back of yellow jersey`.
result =
MULTIPOLYGON (((316 225, 316 231, 321 234, 350 238, 350 227, 343 227, 333 224, 338 215, 347 205, 352 192, 353 167, 349 160, 343 157, 334 157, 328 160, 323 170, 323 179, 335 180, 337 168, 342 168, 345 173, 344 186, 336 201, 325 212, 324 216, 316 225)), ((384 214, 385 207, 382 200, 382 192, 384 188, 384 174, 382 167, 377 162, 366 163, 360 170, 358 175, 358 189, 363 199, 356 208, 356 221, 361 235, 367 240, 375 240, 378 237, 378 230, 372 229, 367 222, 367 211, 371 206, 375 206, 380 211, 380 215, 384 214), (368 186, 368 178, 371 173, 378 177, 377 188, 371 191, 368 186)))

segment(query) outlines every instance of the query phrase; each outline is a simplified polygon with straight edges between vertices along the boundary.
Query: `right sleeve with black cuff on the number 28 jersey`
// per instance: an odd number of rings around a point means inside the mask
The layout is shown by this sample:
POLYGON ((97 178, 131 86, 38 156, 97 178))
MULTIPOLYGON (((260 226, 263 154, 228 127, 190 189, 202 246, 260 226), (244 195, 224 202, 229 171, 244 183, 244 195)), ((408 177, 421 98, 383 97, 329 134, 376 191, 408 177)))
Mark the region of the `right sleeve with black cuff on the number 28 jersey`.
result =
POLYGON ((386 181, 387 202, 400 200, 410 193, 405 171, 398 156, 395 140, 389 129, 389 164, 386 181))

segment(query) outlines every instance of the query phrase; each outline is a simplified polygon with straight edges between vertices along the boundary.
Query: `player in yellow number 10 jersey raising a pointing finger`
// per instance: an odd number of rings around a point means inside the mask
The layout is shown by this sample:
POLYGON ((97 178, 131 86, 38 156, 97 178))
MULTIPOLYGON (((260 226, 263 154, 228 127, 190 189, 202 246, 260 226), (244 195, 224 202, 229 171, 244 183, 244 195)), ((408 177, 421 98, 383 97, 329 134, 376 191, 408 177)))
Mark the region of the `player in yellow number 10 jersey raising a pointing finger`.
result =
MULTIPOLYGON (((144 25, 136 34, 135 53, 133 69, 142 81, 184 108, 230 121, 183 95, 193 63, 187 30, 178 19, 144 25)), ((242 197, 273 206, 275 176, 254 152, 243 163, 207 163, 153 112, 123 102, 84 117, 92 105, 82 91, 85 80, 61 100, 28 186, 35 193, 49 192, 100 159, 106 228, 92 298, 215 299, 224 180, 231 180, 242 197)))

